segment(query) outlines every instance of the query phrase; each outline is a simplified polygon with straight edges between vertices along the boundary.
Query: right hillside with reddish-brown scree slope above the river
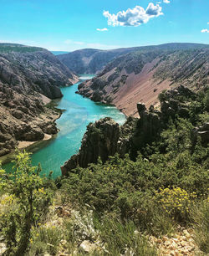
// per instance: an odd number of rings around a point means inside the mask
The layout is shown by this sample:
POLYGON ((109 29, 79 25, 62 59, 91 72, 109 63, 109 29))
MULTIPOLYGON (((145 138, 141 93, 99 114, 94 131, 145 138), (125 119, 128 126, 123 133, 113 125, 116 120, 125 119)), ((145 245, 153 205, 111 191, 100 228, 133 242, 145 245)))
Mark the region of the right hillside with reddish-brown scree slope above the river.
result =
POLYGON ((158 105, 157 95, 170 86, 184 84, 193 90, 206 86, 208 70, 208 45, 142 47, 112 60, 94 79, 79 84, 79 94, 135 116, 138 101, 147 107, 158 105))

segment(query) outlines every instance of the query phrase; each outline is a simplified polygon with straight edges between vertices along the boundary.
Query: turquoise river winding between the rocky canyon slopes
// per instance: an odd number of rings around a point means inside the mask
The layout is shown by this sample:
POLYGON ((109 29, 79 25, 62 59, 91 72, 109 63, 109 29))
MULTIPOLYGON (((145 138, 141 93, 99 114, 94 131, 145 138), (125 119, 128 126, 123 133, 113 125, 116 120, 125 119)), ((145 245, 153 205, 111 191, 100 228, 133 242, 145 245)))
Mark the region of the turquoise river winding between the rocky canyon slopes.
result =
MULTIPOLYGON (((90 74, 81 75, 79 83, 61 89, 64 97, 58 102, 58 108, 64 112, 56 121, 60 131, 54 139, 44 142, 43 147, 38 147, 38 151, 32 155, 33 165, 38 165, 40 162, 43 173, 48 174, 53 171, 54 178, 61 175, 60 166, 64 161, 79 151, 89 122, 106 116, 112 117, 120 125, 125 122, 125 115, 114 106, 95 103, 82 95, 75 94, 81 82, 93 77, 94 75, 90 74)), ((7 171, 11 167, 11 163, 3 166, 7 171)))

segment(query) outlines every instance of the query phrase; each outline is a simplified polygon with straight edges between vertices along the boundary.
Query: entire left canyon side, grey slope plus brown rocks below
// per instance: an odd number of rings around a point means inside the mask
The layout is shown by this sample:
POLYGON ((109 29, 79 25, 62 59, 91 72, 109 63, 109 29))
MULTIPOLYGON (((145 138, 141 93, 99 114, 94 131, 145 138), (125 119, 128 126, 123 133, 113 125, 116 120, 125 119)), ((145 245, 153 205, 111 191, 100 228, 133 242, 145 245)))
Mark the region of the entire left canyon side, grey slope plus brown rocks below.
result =
POLYGON ((74 79, 46 49, 0 44, 0 156, 18 141, 39 141, 57 132, 59 114, 44 105, 62 97, 59 86, 74 79))

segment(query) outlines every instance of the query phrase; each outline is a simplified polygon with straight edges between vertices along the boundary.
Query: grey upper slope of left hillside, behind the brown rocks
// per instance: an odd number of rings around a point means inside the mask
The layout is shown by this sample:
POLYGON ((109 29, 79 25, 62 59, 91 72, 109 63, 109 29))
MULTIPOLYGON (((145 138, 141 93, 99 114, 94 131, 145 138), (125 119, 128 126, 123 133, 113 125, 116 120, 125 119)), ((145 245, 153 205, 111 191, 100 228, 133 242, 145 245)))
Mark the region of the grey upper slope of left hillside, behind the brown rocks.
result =
POLYGON ((18 93, 35 90, 49 99, 62 97, 59 87, 72 84, 77 77, 48 50, 32 49, 0 44, 0 81, 16 87, 18 93))

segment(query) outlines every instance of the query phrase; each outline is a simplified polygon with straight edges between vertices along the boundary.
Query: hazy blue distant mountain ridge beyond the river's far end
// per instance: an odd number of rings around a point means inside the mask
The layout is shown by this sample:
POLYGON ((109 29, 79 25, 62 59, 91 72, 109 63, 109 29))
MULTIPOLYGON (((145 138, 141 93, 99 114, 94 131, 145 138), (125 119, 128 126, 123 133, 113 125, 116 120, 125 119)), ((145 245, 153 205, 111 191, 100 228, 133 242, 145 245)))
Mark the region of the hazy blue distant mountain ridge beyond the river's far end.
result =
POLYGON ((161 44, 158 46, 143 46, 113 50, 81 49, 69 54, 58 55, 70 70, 76 74, 98 74, 111 60, 122 54, 129 54, 136 50, 150 49, 192 49, 201 48, 203 44, 161 44))

